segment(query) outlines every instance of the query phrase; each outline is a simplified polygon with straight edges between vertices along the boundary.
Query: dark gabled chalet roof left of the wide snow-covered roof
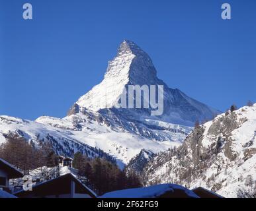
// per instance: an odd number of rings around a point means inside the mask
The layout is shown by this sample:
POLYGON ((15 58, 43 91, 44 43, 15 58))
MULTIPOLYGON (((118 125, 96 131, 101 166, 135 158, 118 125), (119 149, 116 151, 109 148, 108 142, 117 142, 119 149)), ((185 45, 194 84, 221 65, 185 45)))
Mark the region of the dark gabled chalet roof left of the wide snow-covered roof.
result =
MULTIPOLYGON (((59 191, 58 188, 60 188, 60 189, 64 188, 64 185, 67 185, 68 184, 67 181, 70 181, 70 180, 73 180, 75 182, 75 184, 79 188, 79 191, 81 191, 83 193, 86 192, 91 197, 97 196, 94 191, 92 191, 91 189, 89 189, 89 187, 87 187, 86 185, 81 183, 81 181, 79 181, 79 179, 77 179, 72 173, 67 173, 60 177, 56 177, 54 179, 50 179, 50 180, 44 181, 42 183, 38 183, 36 185, 33 185, 32 191, 21 190, 21 191, 16 192, 15 195, 22 197, 22 196, 26 196, 27 193, 29 194, 31 192, 35 192, 35 193, 44 195, 43 193, 48 193, 52 190, 59 191)), ((69 185, 67 185, 67 186, 69 186, 69 185)))

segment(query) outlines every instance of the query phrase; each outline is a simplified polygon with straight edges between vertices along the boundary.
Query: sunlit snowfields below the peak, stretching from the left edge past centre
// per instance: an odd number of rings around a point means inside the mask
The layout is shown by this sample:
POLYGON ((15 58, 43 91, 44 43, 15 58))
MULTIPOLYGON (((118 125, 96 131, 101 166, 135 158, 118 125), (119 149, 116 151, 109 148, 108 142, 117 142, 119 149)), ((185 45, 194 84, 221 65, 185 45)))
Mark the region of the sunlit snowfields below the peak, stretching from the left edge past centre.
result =
POLYGON ((40 117, 34 122, 0 116, 0 142, 5 142, 5 136, 9 133, 15 133, 34 142, 36 146, 40 142, 50 141, 58 154, 65 156, 72 157, 73 153, 81 151, 89 157, 115 159, 121 168, 143 148, 159 152, 180 144, 169 140, 150 140, 122 129, 113 131, 103 123, 83 118, 83 115, 73 115, 64 119, 40 117), (42 124, 39 121, 46 123, 42 124))

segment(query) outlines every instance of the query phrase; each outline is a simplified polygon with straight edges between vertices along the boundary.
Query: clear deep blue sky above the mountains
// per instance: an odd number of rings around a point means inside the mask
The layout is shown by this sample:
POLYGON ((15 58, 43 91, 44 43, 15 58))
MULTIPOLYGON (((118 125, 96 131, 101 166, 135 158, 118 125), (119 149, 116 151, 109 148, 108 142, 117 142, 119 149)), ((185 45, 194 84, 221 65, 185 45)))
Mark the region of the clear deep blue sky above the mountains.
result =
POLYGON ((255 0, 0 0, 0 115, 64 117, 124 39, 200 102, 222 111, 256 102, 255 11, 255 0), (26 2, 33 20, 22 19, 26 2), (232 20, 222 20, 222 3, 232 20))

